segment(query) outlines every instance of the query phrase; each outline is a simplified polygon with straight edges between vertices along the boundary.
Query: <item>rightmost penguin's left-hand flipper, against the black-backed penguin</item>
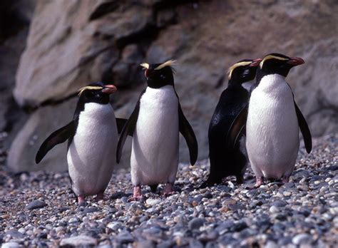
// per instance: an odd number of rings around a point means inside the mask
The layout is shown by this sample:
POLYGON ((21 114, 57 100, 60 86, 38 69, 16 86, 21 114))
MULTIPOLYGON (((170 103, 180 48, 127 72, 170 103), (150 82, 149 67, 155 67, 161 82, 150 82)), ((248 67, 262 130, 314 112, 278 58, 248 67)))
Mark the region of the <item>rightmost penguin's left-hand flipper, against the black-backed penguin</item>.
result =
POLYGON ((245 125, 247 123, 247 109, 249 105, 245 105, 236 118, 232 121, 229 130, 227 131, 227 147, 234 148, 240 138, 240 134, 245 135, 245 125))

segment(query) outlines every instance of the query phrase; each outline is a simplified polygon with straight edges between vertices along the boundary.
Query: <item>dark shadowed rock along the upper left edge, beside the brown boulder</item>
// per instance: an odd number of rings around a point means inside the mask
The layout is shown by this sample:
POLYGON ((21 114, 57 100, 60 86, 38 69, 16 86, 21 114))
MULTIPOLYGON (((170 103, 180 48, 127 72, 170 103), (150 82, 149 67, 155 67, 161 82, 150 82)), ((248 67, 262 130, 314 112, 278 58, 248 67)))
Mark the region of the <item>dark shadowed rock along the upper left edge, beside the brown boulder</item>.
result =
POLYGON ((12 91, 34 4, 34 0, 5 0, 0 3, 0 131, 10 131, 11 123, 24 117, 12 97, 12 91))

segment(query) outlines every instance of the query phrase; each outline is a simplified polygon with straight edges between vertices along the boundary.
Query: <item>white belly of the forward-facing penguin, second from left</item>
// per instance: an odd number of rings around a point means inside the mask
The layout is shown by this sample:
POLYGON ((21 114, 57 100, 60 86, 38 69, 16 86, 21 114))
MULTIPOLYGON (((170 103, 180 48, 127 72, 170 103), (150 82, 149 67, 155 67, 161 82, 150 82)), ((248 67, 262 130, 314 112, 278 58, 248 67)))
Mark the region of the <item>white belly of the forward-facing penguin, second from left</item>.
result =
POLYGON ((147 88, 130 157, 133 185, 174 182, 178 170, 178 98, 172 86, 147 88))

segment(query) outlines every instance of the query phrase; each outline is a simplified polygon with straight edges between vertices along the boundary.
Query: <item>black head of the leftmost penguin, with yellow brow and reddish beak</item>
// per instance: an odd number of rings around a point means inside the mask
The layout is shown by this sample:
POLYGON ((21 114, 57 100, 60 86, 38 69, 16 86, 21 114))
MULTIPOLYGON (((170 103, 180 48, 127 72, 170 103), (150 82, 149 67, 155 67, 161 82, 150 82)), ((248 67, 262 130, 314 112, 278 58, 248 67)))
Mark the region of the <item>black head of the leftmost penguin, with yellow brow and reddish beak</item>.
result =
POLYGON ((78 92, 81 103, 109 103, 109 95, 117 91, 116 86, 104 85, 101 82, 91 83, 81 88, 78 92))

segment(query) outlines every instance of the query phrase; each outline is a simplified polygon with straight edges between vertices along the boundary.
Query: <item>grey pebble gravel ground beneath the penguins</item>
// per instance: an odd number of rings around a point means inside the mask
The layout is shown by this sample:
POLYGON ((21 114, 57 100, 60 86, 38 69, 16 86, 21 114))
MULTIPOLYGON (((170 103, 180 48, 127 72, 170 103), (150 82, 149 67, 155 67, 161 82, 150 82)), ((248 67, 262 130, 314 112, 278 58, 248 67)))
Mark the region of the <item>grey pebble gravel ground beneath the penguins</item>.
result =
MULTIPOLYGON (((0 140, 4 134, 0 134, 0 140)), ((338 135, 302 148, 290 182, 252 189, 235 177, 203 190, 208 161, 180 165, 175 195, 162 197, 143 187, 144 202, 128 202, 130 175, 119 171, 106 200, 78 207, 68 174, 11 175, 0 165, 2 247, 338 247, 338 135)), ((4 163, 6 153, 1 152, 4 163)), ((160 187, 159 190, 162 190, 160 187)))

